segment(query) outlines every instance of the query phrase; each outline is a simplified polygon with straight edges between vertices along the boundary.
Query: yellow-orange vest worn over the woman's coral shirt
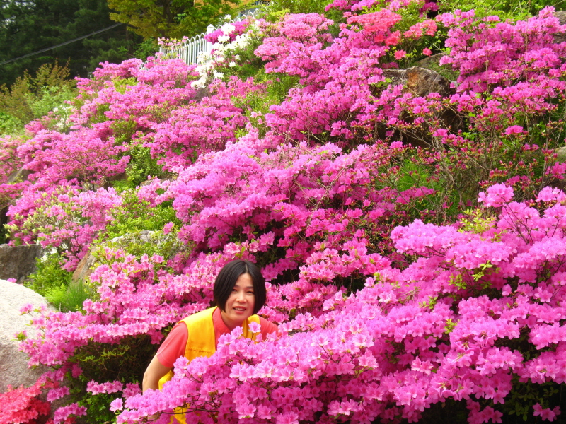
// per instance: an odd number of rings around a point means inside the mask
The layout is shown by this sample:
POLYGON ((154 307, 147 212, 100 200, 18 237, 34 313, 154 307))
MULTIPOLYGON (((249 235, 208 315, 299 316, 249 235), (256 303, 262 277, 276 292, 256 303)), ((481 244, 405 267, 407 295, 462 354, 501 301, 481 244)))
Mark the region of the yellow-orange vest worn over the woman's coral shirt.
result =
MULTIPOLYGON (((189 337, 187 338, 187 346, 185 346, 185 358, 192 361, 200 356, 212 356, 216 352, 216 338, 214 337, 214 324, 212 322, 212 313, 216 307, 211 307, 207 310, 192 314, 190 317, 181 319, 182 322, 187 324, 187 331, 189 337)), ((180 321, 180 322, 181 322, 180 321)), ((242 324, 243 334, 245 338, 255 340, 255 334, 249 329, 250 322, 257 322, 260 324, 260 317, 252 315, 242 324)), ((159 379, 159 390, 163 389, 163 384, 173 378, 173 370, 169 371, 159 379)), ((179 423, 186 424, 185 422, 185 409, 175 408, 175 415, 171 417, 171 423, 175 418, 179 423)))

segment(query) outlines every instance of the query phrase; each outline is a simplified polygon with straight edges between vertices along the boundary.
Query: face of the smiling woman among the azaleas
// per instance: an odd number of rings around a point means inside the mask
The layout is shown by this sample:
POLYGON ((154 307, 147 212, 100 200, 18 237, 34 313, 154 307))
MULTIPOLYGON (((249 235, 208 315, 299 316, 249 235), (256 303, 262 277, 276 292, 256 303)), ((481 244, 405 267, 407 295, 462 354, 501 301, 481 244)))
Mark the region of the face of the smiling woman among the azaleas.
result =
POLYGON ((220 311, 222 321, 233 330, 253 315, 254 306, 253 281, 250 274, 243 273, 236 280, 232 293, 224 305, 224 311, 220 311))

